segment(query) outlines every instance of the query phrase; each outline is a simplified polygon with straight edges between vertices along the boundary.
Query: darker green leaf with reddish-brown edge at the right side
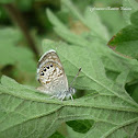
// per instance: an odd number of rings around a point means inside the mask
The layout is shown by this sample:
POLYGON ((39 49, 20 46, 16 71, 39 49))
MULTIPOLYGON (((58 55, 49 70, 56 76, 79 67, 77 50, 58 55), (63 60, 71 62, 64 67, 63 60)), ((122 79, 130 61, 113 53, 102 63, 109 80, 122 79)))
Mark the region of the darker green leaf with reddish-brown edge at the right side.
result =
POLYGON ((110 46, 115 46, 115 50, 138 59, 138 11, 131 14, 131 25, 120 30, 110 42, 110 46))

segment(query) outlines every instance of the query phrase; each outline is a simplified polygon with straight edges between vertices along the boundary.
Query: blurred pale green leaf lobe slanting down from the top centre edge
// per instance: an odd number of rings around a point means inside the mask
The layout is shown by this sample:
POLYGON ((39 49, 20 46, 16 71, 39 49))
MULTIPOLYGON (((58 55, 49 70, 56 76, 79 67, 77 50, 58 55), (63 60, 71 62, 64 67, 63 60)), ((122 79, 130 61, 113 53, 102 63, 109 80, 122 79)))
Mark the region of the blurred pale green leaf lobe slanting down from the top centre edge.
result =
POLYGON ((79 10, 73 5, 73 3, 70 0, 62 0, 61 1, 64 5, 69 9, 69 11, 78 19, 80 20, 88 28, 91 30, 91 33, 100 37, 103 41, 108 39, 108 32, 106 27, 102 24, 99 15, 95 11, 91 12, 91 8, 88 7, 84 12, 84 16, 81 15, 79 10))

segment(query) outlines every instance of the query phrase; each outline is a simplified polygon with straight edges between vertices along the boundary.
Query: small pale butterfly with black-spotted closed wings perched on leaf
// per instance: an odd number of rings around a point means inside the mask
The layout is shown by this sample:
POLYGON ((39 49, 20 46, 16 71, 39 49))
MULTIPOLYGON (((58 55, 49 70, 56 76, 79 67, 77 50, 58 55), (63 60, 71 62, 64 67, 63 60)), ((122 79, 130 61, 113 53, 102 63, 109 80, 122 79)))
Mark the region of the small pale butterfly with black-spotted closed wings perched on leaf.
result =
MULTIPOLYGON (((81 68, 79 69, 73 81, 79 76, 80 71, 81 68)), ((38 60, 37 80, 42 84, 42 87, 37 88, 37 90, 41 92, 50 94, 51 97, 57 97, 61 101, 65 97, 71 97, 71 100, 73 100, 72 94, 76 93, 76 90, 68 85, 68 80, 64 67, 54 49, 46 51, 38 60)))

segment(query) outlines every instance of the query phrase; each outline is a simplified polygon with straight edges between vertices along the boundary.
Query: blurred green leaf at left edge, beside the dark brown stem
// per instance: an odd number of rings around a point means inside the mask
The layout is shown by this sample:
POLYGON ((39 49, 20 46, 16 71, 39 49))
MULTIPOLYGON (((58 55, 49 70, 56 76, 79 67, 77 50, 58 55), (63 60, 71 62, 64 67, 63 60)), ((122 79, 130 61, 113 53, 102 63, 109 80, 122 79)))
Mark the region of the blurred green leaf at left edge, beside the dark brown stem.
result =
POLYGON ((21 46, 16 46, 21 33, 13 28, 0 30, 0 66, 13 65, 21 71, 34 72, 36 62, 33 53, 21 46))

